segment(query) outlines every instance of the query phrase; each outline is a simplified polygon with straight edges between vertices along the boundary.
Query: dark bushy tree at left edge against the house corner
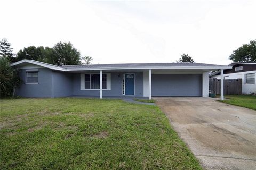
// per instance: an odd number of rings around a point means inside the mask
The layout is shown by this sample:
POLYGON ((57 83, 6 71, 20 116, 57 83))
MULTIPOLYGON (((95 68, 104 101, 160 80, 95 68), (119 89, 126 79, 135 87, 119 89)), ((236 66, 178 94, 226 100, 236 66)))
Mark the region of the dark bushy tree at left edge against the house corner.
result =
POLYGON ((0 96, 14 96, 15 90, 19 87, 21 79, 19 70, 10 66, 7 57, 0 58, 0 96))

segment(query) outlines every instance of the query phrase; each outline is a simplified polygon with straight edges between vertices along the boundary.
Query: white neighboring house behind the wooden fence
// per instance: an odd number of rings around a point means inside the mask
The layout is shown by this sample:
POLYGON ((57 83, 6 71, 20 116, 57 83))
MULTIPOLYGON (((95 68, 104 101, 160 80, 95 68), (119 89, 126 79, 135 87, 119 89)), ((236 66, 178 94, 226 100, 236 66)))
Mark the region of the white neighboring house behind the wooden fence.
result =
MULTIPOLYGON (((232 68, 223 71, 224 79, 242 79, 242 93, 256 93, 256 63, 231 63, 228 66, 232 66, 232 68)), ((215 71, 209 76, 220 79, 220 71, 215 71)))

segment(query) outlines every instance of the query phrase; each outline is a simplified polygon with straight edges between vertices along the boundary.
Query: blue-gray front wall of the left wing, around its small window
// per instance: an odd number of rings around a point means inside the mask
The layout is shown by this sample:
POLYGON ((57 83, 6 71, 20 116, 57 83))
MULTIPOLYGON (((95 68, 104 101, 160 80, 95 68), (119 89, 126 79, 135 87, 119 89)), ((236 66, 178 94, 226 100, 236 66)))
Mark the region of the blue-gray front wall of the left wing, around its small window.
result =
POLYGON ((20 78, 23 81, 17 88, 15 95, 22 97, 52 97, 52 71, 38 69, 38 84, 26 84, 26 70, 21 69, 20 78))

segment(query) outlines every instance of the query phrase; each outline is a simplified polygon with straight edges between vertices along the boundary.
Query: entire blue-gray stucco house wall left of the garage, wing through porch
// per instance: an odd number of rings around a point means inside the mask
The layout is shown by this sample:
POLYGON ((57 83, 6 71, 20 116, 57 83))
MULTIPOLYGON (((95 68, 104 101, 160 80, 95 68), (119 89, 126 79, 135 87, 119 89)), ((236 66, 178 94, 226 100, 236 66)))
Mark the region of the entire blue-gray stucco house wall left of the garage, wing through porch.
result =
MULTIPOLYGON (((50 69, 38 69, 38 84, 26 84, 26 71, 22 69, 23 81, 15 95, 22 97, 66 97, 99 96, 100 90, 81 90, 80 73, 57 72, 50 69)), ((111 73, 111 90, 103 90, 104 96, 124 96, 122 94, 122 75, 127 72, 111 73)), ((128 72, 129 73, 129 72, 128 72)), ((143 72, 135 74, 135 97, 143 96, 143 72)))

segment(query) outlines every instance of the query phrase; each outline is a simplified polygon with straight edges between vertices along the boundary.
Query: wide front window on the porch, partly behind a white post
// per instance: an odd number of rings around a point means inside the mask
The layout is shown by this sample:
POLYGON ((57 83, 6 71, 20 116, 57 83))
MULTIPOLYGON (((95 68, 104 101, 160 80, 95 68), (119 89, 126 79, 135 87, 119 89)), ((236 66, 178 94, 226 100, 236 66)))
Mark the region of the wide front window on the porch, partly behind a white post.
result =
MULTIPOLYGON (((100 89, 100 74, 85 74, 85 89, 100 89)), ((102 74, 102 89, 107 89, 107 74, 102 74)))

